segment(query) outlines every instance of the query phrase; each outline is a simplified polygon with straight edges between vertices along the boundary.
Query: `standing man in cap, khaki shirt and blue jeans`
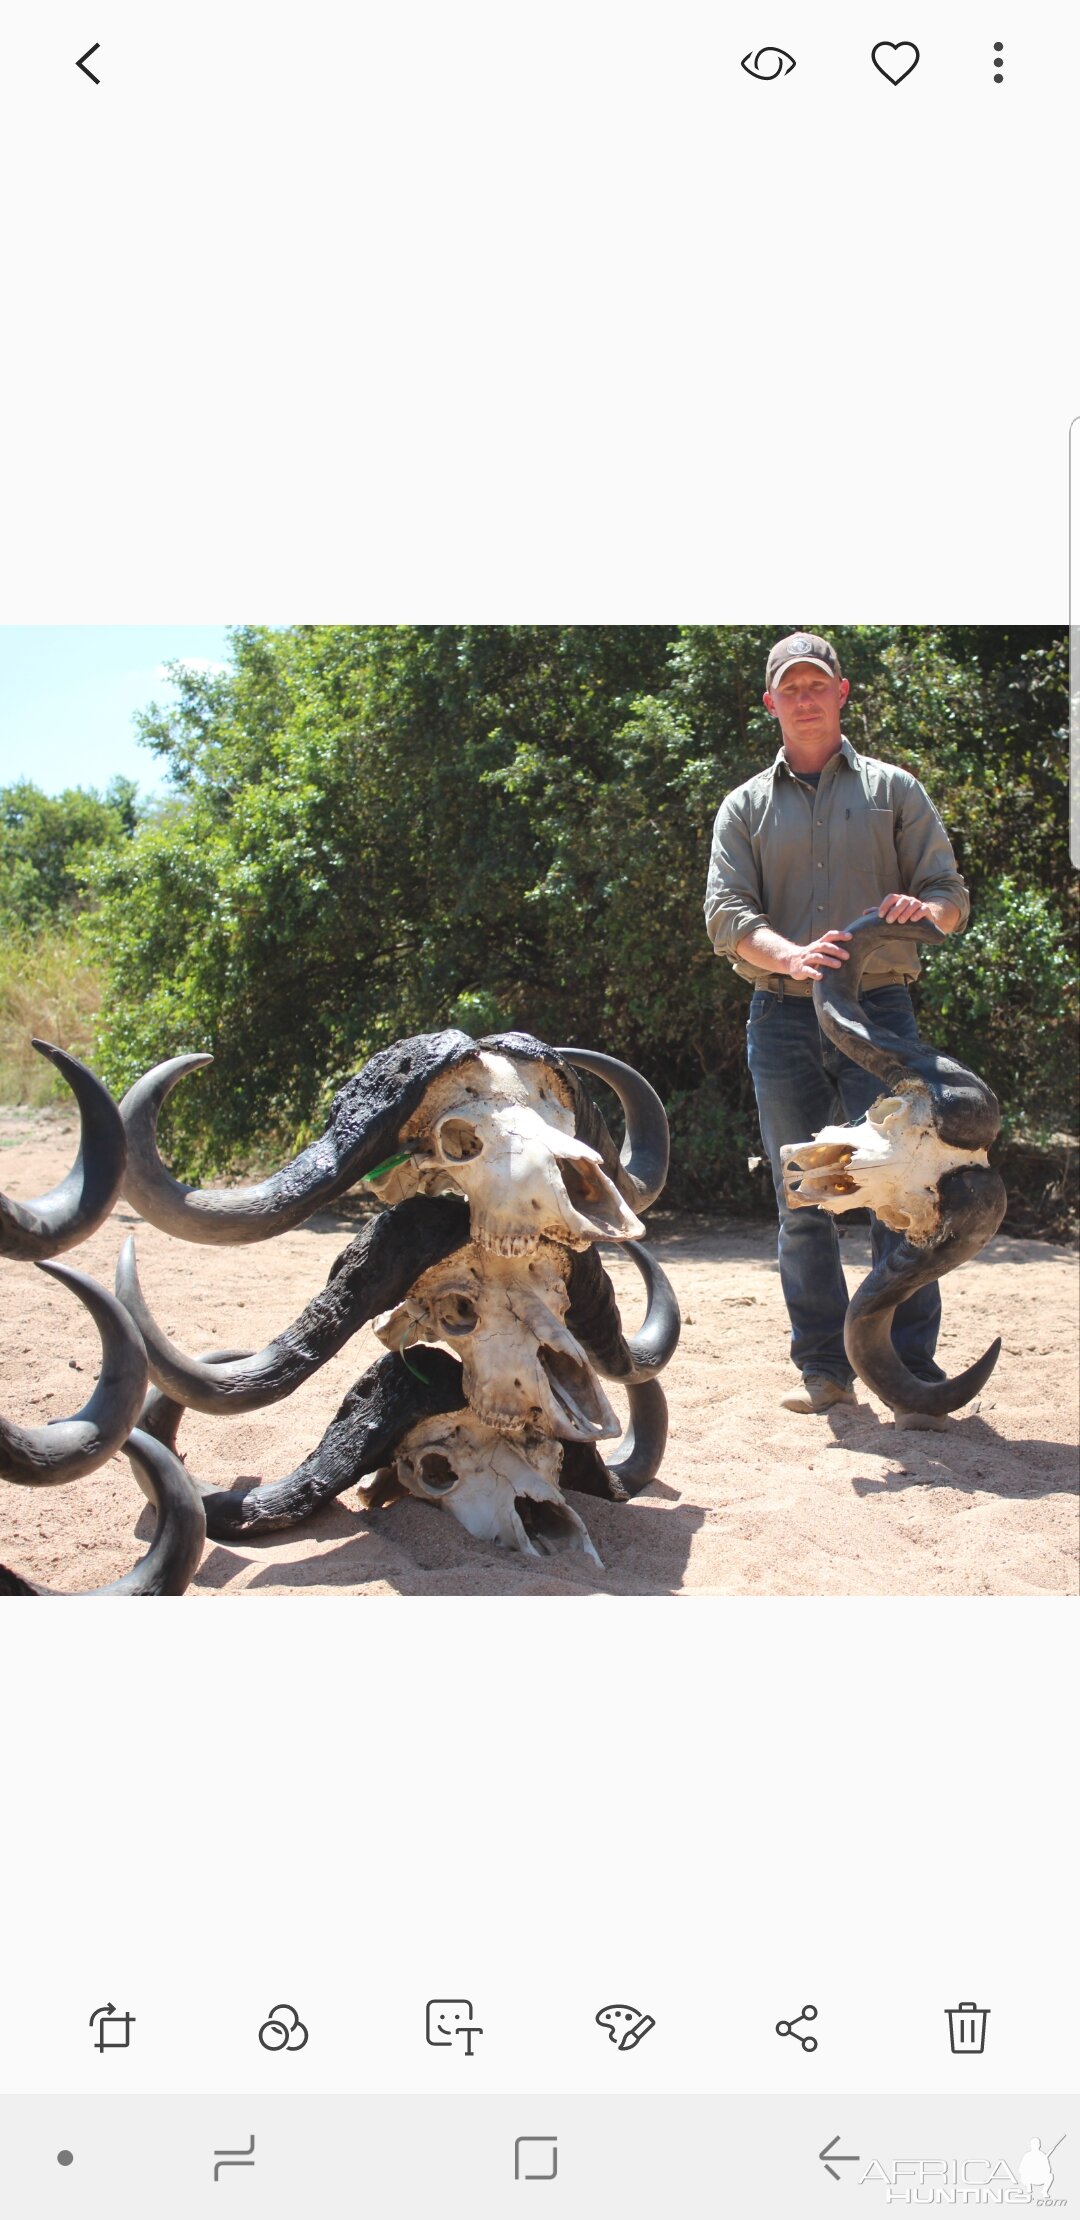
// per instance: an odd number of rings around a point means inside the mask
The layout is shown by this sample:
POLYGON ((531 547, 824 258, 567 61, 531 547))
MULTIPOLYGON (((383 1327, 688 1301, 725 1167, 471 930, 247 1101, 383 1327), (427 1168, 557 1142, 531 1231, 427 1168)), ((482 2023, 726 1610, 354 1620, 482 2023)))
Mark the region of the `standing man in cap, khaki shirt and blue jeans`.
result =
MULTIPOLYGON (((713 826, 704 921, 718 957, 729 957, 753 997, 747 1057, 758 1119, 780 1208, 780 1285, 791 1319, 791 1361, 802 1385, 784 1410, 824 1412, 853 1403, 844 1352, 847 1285, 836 1223, 824 1210, 789 1210, 780 1177, 787 1141, 822 1126, 853 1123, 880 1094, 880 1079, 851 1063, 820 1032, 813 981, 847 963, 844 926, 864 910, 904 924, 931 917, 942 932, 967 924, 969 899, 949 835, 918 779, 896 764, 858 755, 840 730, 849 682, 829 639, 778 639, 764 673, 764 708, 782 746, 727 797, 713 826)), ((862 1001, 893 1032, 918 1037, 909 986, 911 944, 867 961, 862 1001)), ((878 1263, 902 1234, 873 1219, 878 1263)), ((938 1283, 900 1305, 893 1345, 909 1372, 940 1381, 933 1361, 938 1283)), ((898 1425, 944 1425, 898 1412, 898 1425)))

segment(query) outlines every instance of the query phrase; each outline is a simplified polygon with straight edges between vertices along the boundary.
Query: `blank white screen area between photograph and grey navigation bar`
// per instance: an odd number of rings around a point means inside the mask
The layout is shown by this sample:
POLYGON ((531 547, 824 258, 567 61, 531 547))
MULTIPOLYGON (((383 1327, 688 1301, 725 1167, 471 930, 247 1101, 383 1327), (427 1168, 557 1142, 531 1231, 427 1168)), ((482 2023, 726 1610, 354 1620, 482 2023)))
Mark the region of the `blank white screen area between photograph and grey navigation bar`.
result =
POLYGON ((18 1616, 0 2087, 1076 2087, 1067 1603, 18 1616), (611 2002, 656 2018, 629 2054, 611 2002), (813 2056, 776 2036, 807 2002, 813 2056))

